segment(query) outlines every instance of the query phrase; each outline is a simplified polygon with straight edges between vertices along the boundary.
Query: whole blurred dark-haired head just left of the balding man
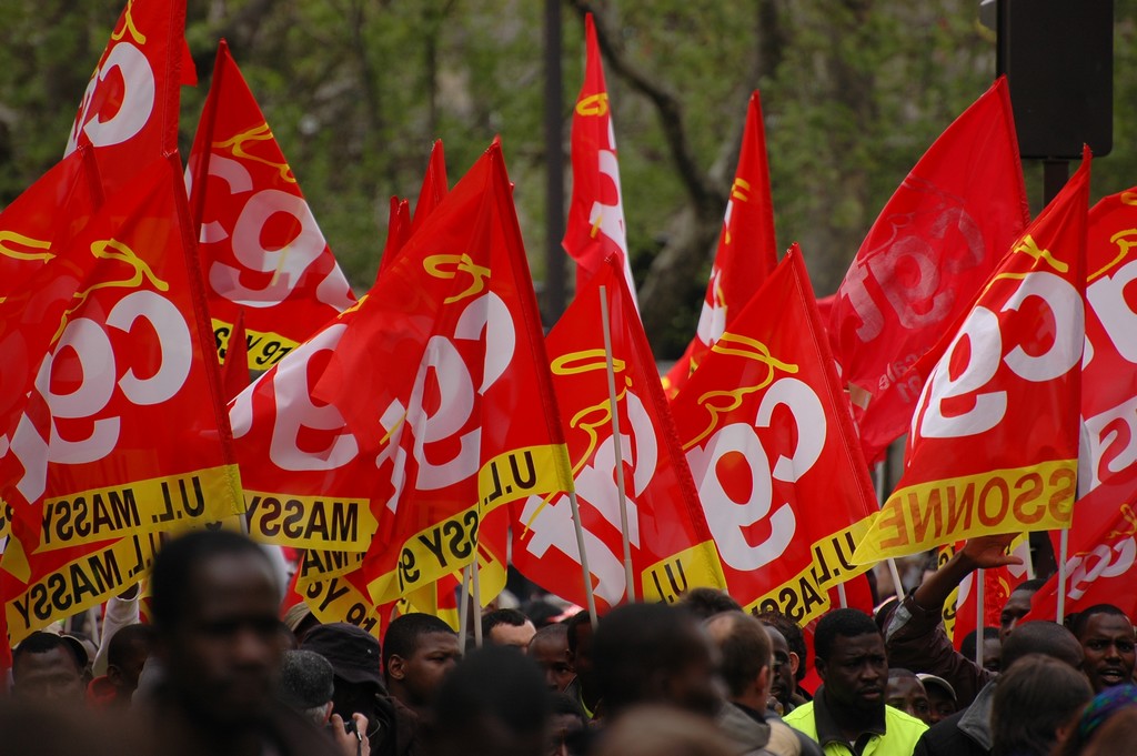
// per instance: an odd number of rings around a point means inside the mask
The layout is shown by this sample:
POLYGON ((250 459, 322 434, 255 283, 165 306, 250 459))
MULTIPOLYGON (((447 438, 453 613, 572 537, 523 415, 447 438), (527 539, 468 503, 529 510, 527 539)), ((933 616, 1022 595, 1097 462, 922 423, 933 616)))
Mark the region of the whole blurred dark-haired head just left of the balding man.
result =
POLYGON ((632 704, 670 704, 707 715, 719 706, 706 637, 694 617, 666 604, 630 604, 605 615, 592 659, 613 715, 632 704))

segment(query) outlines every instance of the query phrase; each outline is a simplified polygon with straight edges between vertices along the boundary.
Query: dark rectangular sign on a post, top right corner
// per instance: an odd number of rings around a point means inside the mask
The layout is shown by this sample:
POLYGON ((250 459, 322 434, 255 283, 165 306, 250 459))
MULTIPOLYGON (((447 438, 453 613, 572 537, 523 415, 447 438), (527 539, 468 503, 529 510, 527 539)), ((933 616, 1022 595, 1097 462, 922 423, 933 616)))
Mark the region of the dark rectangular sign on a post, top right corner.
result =
POLYGON ((996 67, 1006 74, 1023 158, 1043 160, 1045 202, 1089 144, 1113 148, 1113 0, 996 0, 996 67))

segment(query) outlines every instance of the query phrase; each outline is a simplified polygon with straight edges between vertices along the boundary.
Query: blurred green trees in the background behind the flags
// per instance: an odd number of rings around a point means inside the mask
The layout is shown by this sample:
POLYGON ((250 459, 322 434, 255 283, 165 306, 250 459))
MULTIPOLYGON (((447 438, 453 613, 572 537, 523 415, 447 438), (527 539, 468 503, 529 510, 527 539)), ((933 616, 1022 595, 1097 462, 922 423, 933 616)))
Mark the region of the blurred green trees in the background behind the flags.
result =
MULTIPOLYGON (((61 156, 124 1, 0 0, 0 205, 61 156)), ((661 358, 694 332, 752 90, 762 91, 779 247, 799 241, 827 294, 907 171, 995 74, 978 0, 566 0, 566 182, 588 9, 605 35, 628 241, 661 358)), ((1094 165, 1094 200, 1137 184, 1135 10, 1137 0, 1115 2, 1114 148, 1094 165)), ((500 134, 540 291, 542 22, 538 0, 189 0, 200 83, 183 90, 183 155, 225 36, 362 292, 388 200, 414 200, 432 140, 446 144, 453 182, 500 134)), ((1040 171, 1024 168, 1037 213, 1040 171)))

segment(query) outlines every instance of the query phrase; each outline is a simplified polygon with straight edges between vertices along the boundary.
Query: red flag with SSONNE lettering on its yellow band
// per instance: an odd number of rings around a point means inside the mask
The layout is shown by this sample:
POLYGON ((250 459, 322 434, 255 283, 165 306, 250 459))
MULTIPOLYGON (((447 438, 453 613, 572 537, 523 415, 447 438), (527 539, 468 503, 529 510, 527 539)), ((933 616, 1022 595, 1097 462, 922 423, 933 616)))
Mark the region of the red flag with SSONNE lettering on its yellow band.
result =
MULTIPOLYGON (((1068 527, 1078 465, 1089 152, 1011 248, 928 380, 858 562, 1068 527)), ((930 374, 924 367, 943 354, 930 374)))

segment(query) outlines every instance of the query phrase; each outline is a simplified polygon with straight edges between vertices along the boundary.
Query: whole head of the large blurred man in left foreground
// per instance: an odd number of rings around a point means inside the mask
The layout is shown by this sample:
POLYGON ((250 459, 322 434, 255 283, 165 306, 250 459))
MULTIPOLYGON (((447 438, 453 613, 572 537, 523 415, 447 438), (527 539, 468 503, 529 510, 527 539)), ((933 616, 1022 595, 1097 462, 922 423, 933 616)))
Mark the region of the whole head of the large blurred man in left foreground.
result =
POLYGON ((209 726, 247 726, 273 698, 281 589, 256 543, 230 531, 168 541, 150 576, 156 654, 177 703, 209 726))

